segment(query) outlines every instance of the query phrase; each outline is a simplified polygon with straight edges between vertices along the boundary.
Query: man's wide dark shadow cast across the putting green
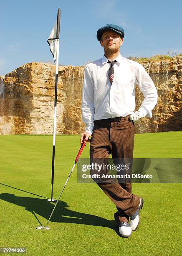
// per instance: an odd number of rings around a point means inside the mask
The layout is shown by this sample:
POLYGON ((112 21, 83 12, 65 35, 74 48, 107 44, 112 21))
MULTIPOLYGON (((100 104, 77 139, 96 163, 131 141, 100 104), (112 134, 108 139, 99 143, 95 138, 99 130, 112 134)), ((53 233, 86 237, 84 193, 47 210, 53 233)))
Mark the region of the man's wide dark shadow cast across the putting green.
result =
MULTIPOLYGON (((19 197, 9 193, 0 194, 0 199, 21 207, 25 207, 25 210, 33 213, 37 220, 38 218, 36 217, 36 214, 48 220, 55 205, 55 203, 49 202, 46 199, 19 197)), ((96 215, 76 212, 68 208, 69 206, 66 202, 59 201, 51 218, 51 222, 94 225, 99 227, 108 227, 116 231, 115 220, 107 220, 96 215)), ((38 222, 40 223, 39 220, 38 222)))

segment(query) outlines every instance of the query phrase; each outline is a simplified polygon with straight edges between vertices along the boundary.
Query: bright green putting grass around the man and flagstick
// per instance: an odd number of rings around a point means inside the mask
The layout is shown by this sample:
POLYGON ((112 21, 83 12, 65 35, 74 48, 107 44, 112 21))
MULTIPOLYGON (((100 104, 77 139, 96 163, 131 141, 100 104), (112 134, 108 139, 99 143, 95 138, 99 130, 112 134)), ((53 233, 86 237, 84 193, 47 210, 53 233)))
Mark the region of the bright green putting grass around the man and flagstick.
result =
MULTIPOLYGON (((134 157, 180 158, 182 132, 136 134, 134 157)), ((141 225, 130 238, 116 233, 114 204, 96 184, 77 183, 76 168, 58 203, 51 195, 52 136, 0 136, 0 247, 26 255, 181 255, 181 184, 133 184, 144 198, 141 225), (3 185, 4 184, 4 185, 3 185), (23 191, 22 191, 23 190, 23 191), (40 223, 39 223, 40 222, 40 223)), ((56 136, 54 197, 78 153, 79 136, 56 136)), ((87 145, 81 158, 88 158, 87 145)))

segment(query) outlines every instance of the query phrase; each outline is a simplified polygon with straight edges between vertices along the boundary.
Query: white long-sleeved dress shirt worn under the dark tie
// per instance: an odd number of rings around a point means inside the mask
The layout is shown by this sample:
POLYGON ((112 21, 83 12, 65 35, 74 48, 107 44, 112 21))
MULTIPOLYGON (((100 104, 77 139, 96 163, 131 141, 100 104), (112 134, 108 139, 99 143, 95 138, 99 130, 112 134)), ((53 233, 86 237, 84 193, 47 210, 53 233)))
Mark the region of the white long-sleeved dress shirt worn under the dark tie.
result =
POLYGON ((144 100, 139 110, 149 118, 157 104, 157 89, 144 67, 121 54, 114 64, 114 81, 109 80, 109 59, 86 64, 82 90, 82 120, 92 133, 94 120, 127 116, 135 110, 135 86, 139 85, 144 100))

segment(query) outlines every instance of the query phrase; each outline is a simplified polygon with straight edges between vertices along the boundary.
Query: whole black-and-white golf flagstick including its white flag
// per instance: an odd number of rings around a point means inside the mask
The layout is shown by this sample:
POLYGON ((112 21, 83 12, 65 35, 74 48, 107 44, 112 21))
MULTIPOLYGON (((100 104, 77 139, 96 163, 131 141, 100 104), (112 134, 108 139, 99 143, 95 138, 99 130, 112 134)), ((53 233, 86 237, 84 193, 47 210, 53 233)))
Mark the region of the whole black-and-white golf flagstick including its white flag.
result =
POLYGON ((58 9, 57 20, 53 26, 51 34, 48 38, 50 51, 53 54, 54 62, 56 61, 56 81, 54 95, 54 123, 53 123, 53 156, 52 156, 52 177, 51 177, 51 199, 48 201, 56 201, 53 199, 53 183, 54 183, 54 157, 55 157, 55 142, 56 142, 56 106, 57 106, 57 88, 58 88, 58 63, 59 63, 59 29, 60 29, 60 9, 58 9))

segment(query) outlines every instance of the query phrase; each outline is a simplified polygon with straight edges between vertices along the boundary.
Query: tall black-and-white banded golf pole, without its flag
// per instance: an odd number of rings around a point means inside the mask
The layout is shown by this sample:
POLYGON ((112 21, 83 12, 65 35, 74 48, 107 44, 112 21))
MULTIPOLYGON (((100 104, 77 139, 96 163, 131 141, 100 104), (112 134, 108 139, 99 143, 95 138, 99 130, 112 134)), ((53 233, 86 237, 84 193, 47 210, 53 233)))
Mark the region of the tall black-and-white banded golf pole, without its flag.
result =
POLYGON ((56 146, 56 108, 57 108, 57 88, 58 88, 58 64, 59 64, 59 28, 60 28, 60 9, 57 15, 57 31, 56 31, 56 81, 55 81, 55 95, 54 95, 54 123, 53 123, 53 156, 52 156, 52 177, 51 177, 51 199, 48 201, 56 201, 53 199, 53 183, 54 183, 54 158, 56 146))

